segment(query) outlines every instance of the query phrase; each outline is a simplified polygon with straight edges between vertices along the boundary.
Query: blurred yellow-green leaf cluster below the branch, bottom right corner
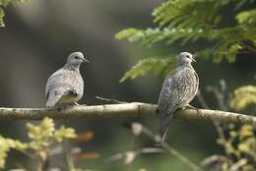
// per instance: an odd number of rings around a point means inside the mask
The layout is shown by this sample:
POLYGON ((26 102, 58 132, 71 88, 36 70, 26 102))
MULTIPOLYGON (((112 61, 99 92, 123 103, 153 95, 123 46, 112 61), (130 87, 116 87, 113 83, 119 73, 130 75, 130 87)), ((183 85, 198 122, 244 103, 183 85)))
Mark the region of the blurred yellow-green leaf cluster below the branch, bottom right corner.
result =
POLYGON ((244 125, 239 130, 230 130, 224 146, 226 155, 214 155, 203 162, 214 171, 252 171, 256 170, 256 130, 244 125))

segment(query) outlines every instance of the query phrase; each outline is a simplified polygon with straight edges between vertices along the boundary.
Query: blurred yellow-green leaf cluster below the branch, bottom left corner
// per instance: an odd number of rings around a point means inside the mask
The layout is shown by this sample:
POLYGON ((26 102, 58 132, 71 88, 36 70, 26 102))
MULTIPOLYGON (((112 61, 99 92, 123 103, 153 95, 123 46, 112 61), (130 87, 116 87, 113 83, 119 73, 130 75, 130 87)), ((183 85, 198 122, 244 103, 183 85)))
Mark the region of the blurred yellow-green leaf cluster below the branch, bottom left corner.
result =
POLYGON ((0 169, 5 167, 6 157, 10 149, 19 150, 36 159, 42 157, 42 154, 47 155, 56 142, 77 137, 72 128, 61 126, 60 129, 55 129, 53 120, 47 117, 38 126, 28 123, 27 128, 31 142, 20 142, 0 136, 0 169))

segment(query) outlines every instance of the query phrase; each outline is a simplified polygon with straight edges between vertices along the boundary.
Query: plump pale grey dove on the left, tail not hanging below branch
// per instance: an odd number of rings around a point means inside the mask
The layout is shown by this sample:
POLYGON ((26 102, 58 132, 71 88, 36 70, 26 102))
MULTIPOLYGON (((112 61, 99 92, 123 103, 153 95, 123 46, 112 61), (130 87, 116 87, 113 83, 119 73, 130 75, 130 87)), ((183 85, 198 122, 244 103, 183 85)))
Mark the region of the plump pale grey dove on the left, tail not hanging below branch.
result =
POLYGON ((81 52, 71 53, 66 65, 53 73, 46 84, 46 108, 58 105, 77 104, 84 93, 84 80, 79 68, 89 62, 81 52))

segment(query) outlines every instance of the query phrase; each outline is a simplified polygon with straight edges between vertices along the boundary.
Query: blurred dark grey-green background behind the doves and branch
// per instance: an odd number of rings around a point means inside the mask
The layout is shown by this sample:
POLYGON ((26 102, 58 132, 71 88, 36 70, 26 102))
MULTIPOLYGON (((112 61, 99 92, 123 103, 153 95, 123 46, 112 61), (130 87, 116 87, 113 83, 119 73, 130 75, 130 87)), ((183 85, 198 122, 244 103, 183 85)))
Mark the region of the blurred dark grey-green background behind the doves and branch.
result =
MULTIPOLYGON (((141 57, 155 52, 170 52, 168 48, 142 48, 114 38, 123 28, 153 27, 152 10, 160 0, 32 0, 7 8, 5 28, 0 28, 0 104, 6 107, 44 107, 44 88, 47 78, 62 67, 67 56, 81 51, 91 63, 81 67, 85 79, 85 96, 81 104, 105 103, 95 96, 121 101, 157 103, 163 78, 147 76, 122 84, 119 80, 141 57)), ((227 13, 227 11, 226 11, 227 13)), ((195 46, 197 46, 195 44, 195 46)), ((186 47, 175 49, 186 51, 186 47)), ((191 51, 193 53, 193 51, 191 51)), ((212 109, 217 100, 208 85, 219 86, 224 80, 227 93, 239 85, 253 84, 256 58, 238 56, 236 63, 213 64, 211 60, 198 60, 194 65, 200 77, 202 95, 212 109)), ((192 104, 200 106, 195 99, 192 104)), ((157 117, 72 119, 58 124, 74 127, 78 133, 92 131, 95 138, 80 143, 83 150, 96 151, 99 157, 80 160, 79 165, 92 170, 127 170, 122 161, 105 162, 109 156, 129 150, 134 136, 123 123, 138 121, 156 131, 157 117)), ((26 141, 26 121, 0 121, 0 134, 26 141)), ((141 137, 135 145, 152 146, 154 142, 141 137)), ((198 163, 213 153, 222 153, 216 143, 217 134, 212 124, 176 119, 171 126, 167 142, 182 154, 198 163)), ((7 164, 17 163, 19 154, 10 157, 7 164), (18 156, 17 156, 18 155, 18 156)), ((163 171, 186 170, 176 158, 168 154, 142 155, 132 163, 130 170, 163 171)))

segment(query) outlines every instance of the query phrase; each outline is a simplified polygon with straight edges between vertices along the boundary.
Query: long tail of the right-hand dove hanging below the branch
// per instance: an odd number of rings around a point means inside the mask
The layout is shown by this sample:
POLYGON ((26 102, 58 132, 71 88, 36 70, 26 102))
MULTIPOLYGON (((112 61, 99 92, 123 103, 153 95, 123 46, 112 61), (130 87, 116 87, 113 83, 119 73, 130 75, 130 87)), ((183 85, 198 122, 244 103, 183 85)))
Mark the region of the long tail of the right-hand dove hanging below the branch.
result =
POLYGON ((169 122, 171 119, 172 114, 170 115, 162 115, 160 114, 160 123, 158 128, 158 136, 160 137, 160 142, 163 142, 165 135, 167 133, 169 122))

